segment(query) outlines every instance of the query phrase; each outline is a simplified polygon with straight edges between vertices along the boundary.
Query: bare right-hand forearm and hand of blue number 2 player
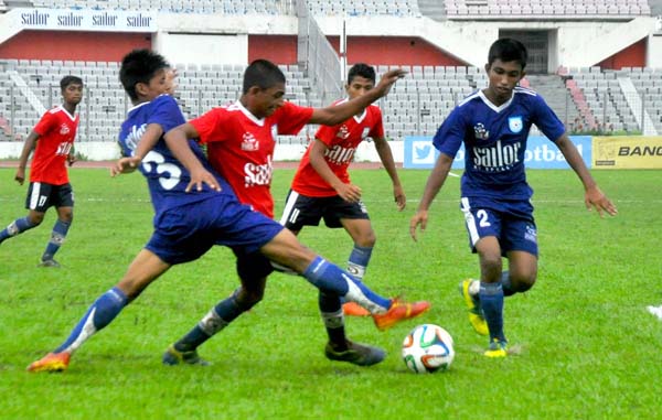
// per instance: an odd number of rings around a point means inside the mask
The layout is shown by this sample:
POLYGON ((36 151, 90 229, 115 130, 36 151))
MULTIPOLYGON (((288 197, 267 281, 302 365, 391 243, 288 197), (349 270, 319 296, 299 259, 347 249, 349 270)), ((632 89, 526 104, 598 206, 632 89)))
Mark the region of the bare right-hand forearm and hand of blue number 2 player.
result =
POLYGON ((563 153, 565 160, 568 162, 570 168, 575 171, 579 180, 584 184, 584 203, 586 204, 586 208, 590 211, 595 207, 598 211, 600 217, 602 217, 602 212, 611 216, 616 216, 618 211, 611 201, 600 191, 598 184, 590 175, 588 168, 584 163, 584 159, 577 151, 577 148, 567 134, 563 134, 558 140, 555 141, 556 146, 563 153))

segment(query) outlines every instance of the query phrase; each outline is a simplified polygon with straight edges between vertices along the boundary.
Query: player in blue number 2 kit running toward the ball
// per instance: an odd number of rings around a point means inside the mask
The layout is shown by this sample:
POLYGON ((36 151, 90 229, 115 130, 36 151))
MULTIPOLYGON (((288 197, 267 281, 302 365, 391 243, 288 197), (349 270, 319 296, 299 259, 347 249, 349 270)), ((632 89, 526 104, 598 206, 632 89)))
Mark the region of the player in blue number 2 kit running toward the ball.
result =
POLYGON ((462 100, 444 121, 434 138, 440 152, 430 173, 409 233, 425 230, 428 208, 444 185, 462 142, 465 174, 461 181, 461 211, 470 246, 478 254, 480 280, 465 280, 460 289, 476 331, 490 336, 484 355, 504 357, 508 341, 503 333, 503 298, 524 292, 537 276, 537 231, 526 183, 524 152, 531 126, 558 147, 579 176, 588 209, 616 215, 616 206, 602 194, 588 172, 563 123, 536 93, 521 88, 526 49, 511 39, 490 47, 485 71, 488 88, 462 100), (509 261, 503 270, 502 257, 509 261))

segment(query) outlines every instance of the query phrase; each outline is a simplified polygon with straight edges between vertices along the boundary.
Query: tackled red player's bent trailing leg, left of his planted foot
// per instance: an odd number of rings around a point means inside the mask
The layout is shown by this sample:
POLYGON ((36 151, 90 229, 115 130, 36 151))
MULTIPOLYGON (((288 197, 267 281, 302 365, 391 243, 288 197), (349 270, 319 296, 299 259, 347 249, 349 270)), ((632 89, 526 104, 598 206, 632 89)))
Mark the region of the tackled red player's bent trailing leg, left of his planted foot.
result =
POLYGON ((191 331, 172 344, 163 354, 163 364, 207 365, 209 363, 197 355, 197 347, 263 300, 267 276, 273 271, 270 261, 261 254, 237 254, 237 273, 242 286, 212 308, 191 331))

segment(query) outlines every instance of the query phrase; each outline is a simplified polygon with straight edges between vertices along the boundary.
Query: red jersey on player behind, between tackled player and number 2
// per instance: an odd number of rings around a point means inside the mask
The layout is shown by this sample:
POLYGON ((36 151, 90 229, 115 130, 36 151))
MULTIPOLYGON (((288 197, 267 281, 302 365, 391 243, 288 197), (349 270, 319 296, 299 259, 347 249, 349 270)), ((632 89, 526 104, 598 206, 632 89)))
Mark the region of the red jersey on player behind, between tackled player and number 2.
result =
MULTIPOLYGON (((342 104, 348 99, 335 101, 342 104)), ((382 111, 375 105, 370 105, 362 115, 353 116, 343 123, 328 127, 321 126, 314 138, 327 144, 324 160, 340 181, 350 183, 348 168, 354 160, 356 147, 366 137, 383 138, 382 111)), ((292 180, 292 190, 309 197, 330 197, 338 195, 335 190, 324 181, 310 164, 310 147, 306 150, 299 169, 292 180)))

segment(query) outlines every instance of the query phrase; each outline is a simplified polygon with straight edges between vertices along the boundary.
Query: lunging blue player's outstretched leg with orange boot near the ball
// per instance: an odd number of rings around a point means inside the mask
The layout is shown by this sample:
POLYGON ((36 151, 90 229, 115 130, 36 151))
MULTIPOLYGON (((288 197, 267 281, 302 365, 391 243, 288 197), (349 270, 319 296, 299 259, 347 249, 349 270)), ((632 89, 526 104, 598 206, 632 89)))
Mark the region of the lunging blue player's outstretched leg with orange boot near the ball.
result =
POLYGON ((264 245, 260 251, 277 263, 299 272, 321 291, 361 304, 373 314, 380 330, 388 329, 429 309, 429 303, 425 301, 406 303, 378 295, 340 267, 301 246, 297 237, 287 229, 264 245))

